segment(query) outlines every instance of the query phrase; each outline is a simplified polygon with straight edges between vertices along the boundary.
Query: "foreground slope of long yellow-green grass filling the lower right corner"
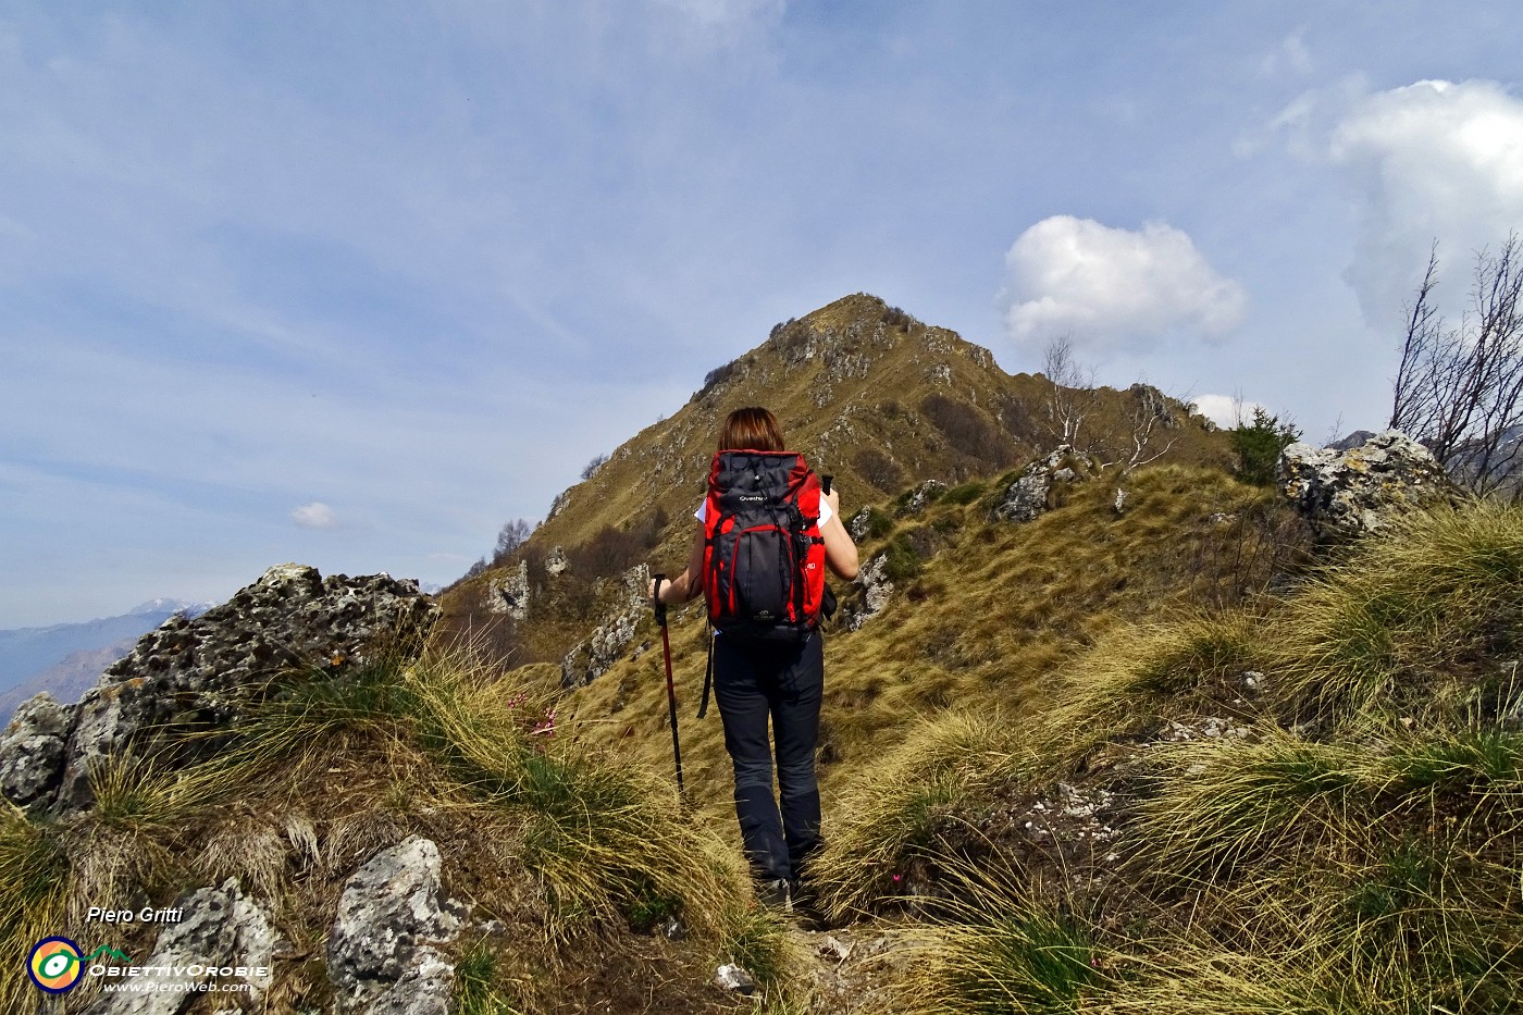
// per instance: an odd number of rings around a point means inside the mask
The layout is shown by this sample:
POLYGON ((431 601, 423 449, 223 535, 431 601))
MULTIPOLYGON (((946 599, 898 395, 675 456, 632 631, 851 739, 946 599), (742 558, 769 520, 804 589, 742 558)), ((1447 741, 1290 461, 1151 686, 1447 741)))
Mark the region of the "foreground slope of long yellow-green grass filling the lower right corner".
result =
POLYGON ((905 870, 941 921, 897 1010, 1518 1010, 1520 567, 1523 512, 1419 517, 1290 596, 1113 629, 1040 719, 926 722, 827 857, 838 911, 902 907, 905 870), (1115 835, 1033 844, 1078 799, 1115 835))

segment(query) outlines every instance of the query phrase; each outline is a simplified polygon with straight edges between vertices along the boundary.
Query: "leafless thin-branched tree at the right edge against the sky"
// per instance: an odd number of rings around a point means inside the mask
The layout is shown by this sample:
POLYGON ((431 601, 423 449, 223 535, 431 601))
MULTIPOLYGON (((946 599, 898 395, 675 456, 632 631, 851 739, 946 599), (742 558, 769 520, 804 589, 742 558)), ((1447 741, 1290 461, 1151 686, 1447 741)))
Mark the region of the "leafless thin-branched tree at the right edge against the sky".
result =
POLYGON ((1429 253, 1392 389, 1390 427, 1424 443, 1476 494, 1523 485, 1523 242, 1511 233, 1496 255, 1476 255, 1470 309, 1445 328, 1433 306, 1438 245, 1429 253))

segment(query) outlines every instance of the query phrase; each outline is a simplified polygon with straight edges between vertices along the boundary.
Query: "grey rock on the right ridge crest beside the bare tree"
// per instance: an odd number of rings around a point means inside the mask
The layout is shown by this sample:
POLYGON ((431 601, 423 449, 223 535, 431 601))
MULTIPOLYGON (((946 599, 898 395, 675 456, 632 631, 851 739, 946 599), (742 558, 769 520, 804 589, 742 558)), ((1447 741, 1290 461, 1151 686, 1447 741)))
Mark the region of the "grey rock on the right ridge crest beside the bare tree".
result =
POLYGON ((1433 454, 1400 430, 1346 450, 1293 443, 1279 456, 1278 486, 1319 543, 1359 538, 1458 495, 1433 454))

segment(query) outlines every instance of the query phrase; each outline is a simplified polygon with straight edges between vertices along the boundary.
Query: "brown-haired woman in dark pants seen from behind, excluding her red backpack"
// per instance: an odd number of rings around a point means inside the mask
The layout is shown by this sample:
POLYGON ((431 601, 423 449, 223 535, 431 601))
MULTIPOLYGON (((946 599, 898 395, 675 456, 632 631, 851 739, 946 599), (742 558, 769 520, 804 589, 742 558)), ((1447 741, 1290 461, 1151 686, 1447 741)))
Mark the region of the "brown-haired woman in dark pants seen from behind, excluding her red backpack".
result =
MULTIPOLYGON (((737 408, 719 431, 719 459, 726 451, 783 451, 783 430, 766 408, 737 408)), ((760 477, 758 477, 760 480, 760 477)), ((810 482, 813 475, 809 475, 810 482)), ((716 480, 711 480, 711 485, 716 480)), ((816 483, 818 486, 818 483, 816 483)), ((857 552, 851 535, 841 524, 838 491, 816 491, 819 540, 824 562, 839 578, 857 575, 857 552)), ((655 582, 647 590, 663 604, 681 604, 704 591, 705 521, 710 500, 696 512, 699 529, 693 536, 687 570, 670 582, 655 582)), ((822 576, 821 576, 822 579, 822 576)), ((710 617, 716 616, 710 604, 710 617)), ((786 905, 800 893, 809 855, 821 844, 819 783, 815 780, 815 741, 819 732, 819 703, 824 692, 824 646, 807 617, 800 634, 766 637, 766 632, 725 629, 714 636, 714 700, 725 727, 725 750, 736 771, 736 817, 757 896, 786 905), (768 741, 768 716, 775 741, 780 800, 772 796, 774 744, 768 741)))

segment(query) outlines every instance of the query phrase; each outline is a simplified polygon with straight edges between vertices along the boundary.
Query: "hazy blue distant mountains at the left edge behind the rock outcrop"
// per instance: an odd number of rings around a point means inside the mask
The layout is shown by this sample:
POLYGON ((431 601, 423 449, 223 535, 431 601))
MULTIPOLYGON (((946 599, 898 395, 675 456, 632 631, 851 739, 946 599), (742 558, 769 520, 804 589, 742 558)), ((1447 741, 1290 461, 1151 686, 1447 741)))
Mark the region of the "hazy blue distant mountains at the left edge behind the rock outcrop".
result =
POLYGON ((151 599, 117 617, 0 631, 0 724, 43 690, 73 701, 143 634, 180 611, 200 616, 210 605, 151 599))

